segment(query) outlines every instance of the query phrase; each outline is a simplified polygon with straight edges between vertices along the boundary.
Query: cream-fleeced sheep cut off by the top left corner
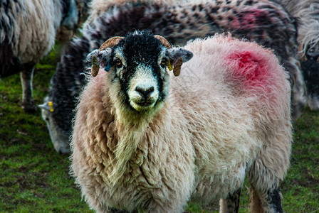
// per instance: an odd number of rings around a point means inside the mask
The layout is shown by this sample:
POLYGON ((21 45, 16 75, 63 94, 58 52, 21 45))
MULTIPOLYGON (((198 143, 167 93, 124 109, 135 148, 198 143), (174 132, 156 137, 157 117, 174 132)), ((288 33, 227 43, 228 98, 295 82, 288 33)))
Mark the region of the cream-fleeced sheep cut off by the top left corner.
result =
POLYGON ((37 109, 32 89, 34 65, 51 51, 58 28, 70 31, 77 22, 75 0, 1 1, 0 78, 21 72, 22 108, 26 111, 37 109))

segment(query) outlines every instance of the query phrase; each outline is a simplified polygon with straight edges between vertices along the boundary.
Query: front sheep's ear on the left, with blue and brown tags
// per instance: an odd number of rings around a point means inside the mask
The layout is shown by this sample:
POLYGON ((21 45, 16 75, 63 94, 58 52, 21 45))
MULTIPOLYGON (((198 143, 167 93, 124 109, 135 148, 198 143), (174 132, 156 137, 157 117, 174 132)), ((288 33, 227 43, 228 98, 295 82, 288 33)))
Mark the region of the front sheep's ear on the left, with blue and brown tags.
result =
POLYGON ((93 77, 98 75, 98 71, 100 67, 102 67, 106 72, 110 70, 110 55, 112 50, 110 48, 106 48, 105 50, 93 50, 88 56, 86 60, 91 62, 91 75, 93 77))

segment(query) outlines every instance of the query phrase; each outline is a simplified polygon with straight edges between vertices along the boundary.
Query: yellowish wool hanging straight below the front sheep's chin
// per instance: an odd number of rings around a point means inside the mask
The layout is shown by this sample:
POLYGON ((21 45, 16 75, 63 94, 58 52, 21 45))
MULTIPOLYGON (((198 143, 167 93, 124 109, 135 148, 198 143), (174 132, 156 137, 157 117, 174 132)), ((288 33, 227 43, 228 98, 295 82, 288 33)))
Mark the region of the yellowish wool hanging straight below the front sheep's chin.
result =
POLYGON ((120 181, 132 166, 141 166, 147 158, 145 155, 147 155, 148 146, 143 146, 142 143, 151 142, 147 142, 147 132, 151 129, 150 124, 162 120, 164 110, 165 107, 160 106, 155 111, 140 114, 132 109, 123 110, 123 107, 115 109, 118 141, 114 151, 117 163, 111 174, 114 183, 120 181), (140 152, 143 154, 140 155, 140 152))

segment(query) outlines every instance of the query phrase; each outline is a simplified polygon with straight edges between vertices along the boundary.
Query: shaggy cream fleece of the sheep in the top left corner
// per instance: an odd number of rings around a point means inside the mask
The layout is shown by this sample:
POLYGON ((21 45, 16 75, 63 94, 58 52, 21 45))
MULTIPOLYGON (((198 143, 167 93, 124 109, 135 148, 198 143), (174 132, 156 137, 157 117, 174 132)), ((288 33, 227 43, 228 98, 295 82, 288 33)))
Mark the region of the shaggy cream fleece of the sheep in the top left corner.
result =
POLYGON ((21 63, 40 61, 54 45, 62 20, 61 2, 16 0, 8 4, 9 11, 0 11, 0 20, 6 26, 0 29, 1 43, 6 38, 21 63))

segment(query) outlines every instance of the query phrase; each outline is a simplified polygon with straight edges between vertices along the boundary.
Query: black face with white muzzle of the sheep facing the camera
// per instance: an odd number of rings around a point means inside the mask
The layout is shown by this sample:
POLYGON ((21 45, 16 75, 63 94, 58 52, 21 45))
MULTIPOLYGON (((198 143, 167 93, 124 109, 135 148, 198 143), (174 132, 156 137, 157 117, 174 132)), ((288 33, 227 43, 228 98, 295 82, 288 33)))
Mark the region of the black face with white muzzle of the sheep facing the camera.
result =
POLYGON ((149 111, 167 97, 165 49, 157 40, 147 51, 143 43, 119 45, 113 52, 115 78, 125 95, 125 102, 136 111, 149 111), (163 61, 163 62, 162 62, 163 61))

